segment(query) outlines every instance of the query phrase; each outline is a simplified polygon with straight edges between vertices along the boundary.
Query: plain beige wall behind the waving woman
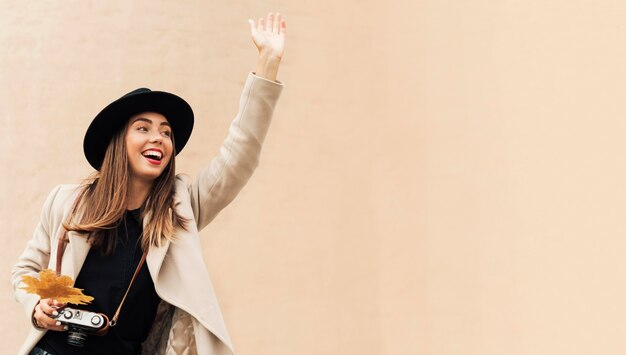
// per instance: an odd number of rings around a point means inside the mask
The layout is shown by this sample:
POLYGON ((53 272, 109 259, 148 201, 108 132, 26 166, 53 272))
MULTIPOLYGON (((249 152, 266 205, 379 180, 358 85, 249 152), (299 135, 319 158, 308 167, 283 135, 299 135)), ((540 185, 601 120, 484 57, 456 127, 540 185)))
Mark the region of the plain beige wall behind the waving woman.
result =
MULTIPOLYGON (((139 86, 217 150, 288 19, 260 168, 203 235, 240 354, 623 354, 626 3, 0 2, 1 274, 139 86)), ((5 279, 6 280, 6 279, 5 279)), ((29 324, 0 284, 0 353, 29 324)))

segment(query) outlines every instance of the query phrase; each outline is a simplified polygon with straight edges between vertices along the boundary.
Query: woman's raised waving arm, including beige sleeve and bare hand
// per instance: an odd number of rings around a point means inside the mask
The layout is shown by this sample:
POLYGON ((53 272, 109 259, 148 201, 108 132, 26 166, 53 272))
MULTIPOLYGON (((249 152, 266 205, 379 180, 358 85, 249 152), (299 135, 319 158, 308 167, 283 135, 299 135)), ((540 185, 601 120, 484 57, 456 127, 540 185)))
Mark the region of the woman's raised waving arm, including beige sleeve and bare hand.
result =
POLYGON ((239 102, 239 112, 228 136, 208 167, 188 185, 198 230, 226 207, 256 169, 261 146, 269 129, 274 107, 283 88, 276 81, 285 42, 285 20, 267 16, 250 20, 252 40, 259 50, 255 72, 248 75, 239 102))

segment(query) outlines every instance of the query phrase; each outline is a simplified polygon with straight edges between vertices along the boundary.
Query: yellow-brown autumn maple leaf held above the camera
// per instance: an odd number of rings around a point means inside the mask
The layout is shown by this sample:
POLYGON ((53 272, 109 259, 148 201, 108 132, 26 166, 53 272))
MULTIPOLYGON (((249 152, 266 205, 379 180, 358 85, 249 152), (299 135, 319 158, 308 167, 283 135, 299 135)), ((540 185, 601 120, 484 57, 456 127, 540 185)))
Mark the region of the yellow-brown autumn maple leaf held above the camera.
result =
POLYGON ((50 269, 41 270, 39 278, 22 276, 22 282, 26 287, 21 287, 28 293, 39 295, 43 298, 53 298, 59 302, 71 304, 89 304, 93 297, 83 294, 83 290, 75 288, 74 281, 67 275, 57 276, 50 269))

